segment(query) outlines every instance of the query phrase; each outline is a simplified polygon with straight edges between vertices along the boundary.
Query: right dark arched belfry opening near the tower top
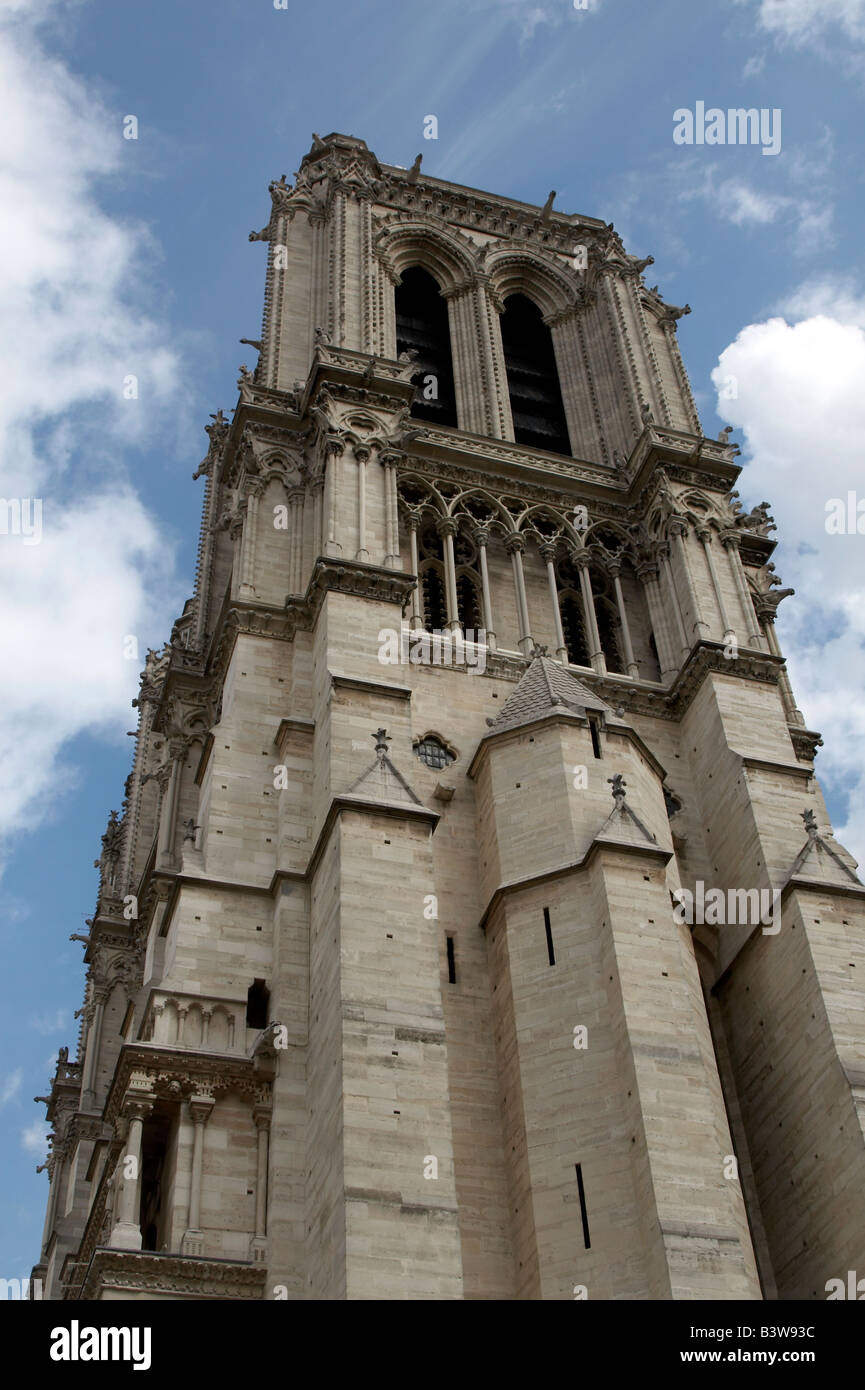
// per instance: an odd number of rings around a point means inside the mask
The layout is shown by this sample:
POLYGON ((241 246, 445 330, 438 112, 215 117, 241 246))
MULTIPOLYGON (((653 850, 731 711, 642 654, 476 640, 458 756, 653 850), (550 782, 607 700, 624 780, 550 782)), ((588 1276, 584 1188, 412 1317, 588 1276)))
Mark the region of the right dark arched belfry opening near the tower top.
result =
POLYGON ((513 438, 533 449, 570 453, 552 335, 526 295, 510 295, 502 314, 502 348, 513 438))

